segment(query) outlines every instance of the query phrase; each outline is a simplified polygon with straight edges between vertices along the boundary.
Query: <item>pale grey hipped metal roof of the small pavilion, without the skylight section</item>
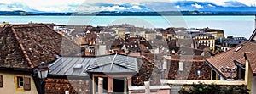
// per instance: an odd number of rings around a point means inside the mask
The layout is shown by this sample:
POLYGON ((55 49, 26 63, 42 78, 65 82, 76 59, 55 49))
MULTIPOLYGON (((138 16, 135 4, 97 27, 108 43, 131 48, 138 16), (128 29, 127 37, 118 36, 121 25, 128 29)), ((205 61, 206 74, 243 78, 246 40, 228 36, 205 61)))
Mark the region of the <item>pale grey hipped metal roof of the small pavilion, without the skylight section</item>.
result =
POLYGON ((137 58, 121 54, 96 57, 87 72, 131 73, 138 72, 137 58))

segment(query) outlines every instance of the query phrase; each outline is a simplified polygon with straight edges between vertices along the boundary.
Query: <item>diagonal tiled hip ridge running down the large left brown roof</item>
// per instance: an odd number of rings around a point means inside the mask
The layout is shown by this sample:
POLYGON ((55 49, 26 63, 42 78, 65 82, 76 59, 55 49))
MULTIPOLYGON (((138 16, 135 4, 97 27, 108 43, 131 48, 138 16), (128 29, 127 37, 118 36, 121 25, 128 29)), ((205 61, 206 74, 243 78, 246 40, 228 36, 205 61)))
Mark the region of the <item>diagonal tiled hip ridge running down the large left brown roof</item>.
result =
POLYGON ((28 58, 28 55, 26 54, 26 50, 25 50, 25 48, 23 47, 22 43, 20 42, 20 38, 19 38, 19 36, 17 35, 17 33, 16 33, 14 27, 13 27, 12 25, 10 25, 9 27, 11 28, 11 30, 12 30, 14 36, 15 36, 16 41, 18 42, 18 45, 19 45, 19 47, 20 47, 21 52, 23 53, 24 57, 26 58, 26 61, 27 61, 28 64, 30 65, 29 67, 30 67, 30 68, 34 68, 34 65, 32 64, 30 58, 28 58))

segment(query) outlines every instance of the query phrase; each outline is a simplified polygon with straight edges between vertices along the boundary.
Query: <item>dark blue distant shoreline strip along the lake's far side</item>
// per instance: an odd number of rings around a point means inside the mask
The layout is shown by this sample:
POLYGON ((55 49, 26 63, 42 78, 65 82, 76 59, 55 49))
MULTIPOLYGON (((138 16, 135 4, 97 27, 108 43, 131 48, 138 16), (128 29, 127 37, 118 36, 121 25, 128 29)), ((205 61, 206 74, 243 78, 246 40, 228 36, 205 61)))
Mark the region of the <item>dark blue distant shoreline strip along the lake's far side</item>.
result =
POLYGON ((130 12, 101 11, 93 13, 42 13, 26 11, 0 11, 0 16, 252 16, 256 11, 207 12, 207 11, 163 11, 163 12, 130 12))

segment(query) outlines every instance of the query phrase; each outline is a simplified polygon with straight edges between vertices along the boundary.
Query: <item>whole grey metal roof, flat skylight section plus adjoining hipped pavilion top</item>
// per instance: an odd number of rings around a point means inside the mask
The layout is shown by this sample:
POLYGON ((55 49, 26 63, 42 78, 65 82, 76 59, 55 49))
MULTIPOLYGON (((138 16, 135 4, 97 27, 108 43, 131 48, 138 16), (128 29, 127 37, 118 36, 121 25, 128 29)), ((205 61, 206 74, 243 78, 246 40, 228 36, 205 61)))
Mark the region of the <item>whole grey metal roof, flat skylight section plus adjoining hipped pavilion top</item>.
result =
POLYGON ((137 58, 120 54, 96 57, 61 57, 49 64, 49 75, 88 76, 96 73, 138 72, 137 58))

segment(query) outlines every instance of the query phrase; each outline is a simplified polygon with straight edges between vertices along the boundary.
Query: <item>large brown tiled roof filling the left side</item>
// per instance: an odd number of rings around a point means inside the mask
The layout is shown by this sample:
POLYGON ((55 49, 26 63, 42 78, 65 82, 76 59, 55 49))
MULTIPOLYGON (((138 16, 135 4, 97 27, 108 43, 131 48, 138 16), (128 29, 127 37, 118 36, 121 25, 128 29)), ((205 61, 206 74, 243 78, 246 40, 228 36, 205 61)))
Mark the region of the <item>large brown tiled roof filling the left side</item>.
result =
POLYGON ((81 47, 43 24, 9 25, 0 32, 0 67, 32 69, 55 55, 79 53, 81 47))

